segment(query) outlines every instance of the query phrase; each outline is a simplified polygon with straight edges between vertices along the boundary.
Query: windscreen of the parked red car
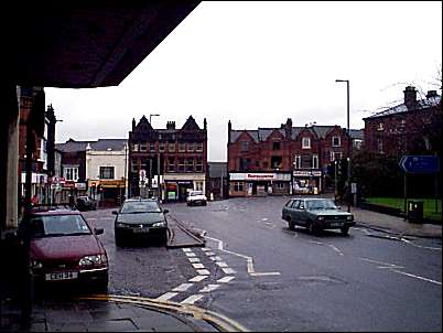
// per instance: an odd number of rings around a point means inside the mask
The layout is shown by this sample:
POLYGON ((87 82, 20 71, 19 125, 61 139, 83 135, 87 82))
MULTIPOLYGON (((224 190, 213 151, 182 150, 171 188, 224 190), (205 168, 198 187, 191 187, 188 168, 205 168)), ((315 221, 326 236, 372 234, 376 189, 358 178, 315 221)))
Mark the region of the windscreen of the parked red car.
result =
POLYGON ((29 222, 32 237, 90 235, 91 232, 80 215, 35 216, 29 222))

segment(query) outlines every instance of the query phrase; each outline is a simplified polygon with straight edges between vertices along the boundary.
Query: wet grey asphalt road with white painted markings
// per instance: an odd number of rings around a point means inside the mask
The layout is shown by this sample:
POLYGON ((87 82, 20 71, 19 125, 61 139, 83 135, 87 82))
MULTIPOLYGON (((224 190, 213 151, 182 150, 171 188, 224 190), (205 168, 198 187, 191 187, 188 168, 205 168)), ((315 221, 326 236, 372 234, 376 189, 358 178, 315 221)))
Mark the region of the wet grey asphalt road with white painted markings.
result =
POLYGON ((252 331, 440 332, 441 240, 371 237, 363 227, 349 236, 290 230, 287 200, 165 204, 205 232, 205 248, 118 248, 110 210, 85 216, 105 228, 110 293, 194 303, 252 331))

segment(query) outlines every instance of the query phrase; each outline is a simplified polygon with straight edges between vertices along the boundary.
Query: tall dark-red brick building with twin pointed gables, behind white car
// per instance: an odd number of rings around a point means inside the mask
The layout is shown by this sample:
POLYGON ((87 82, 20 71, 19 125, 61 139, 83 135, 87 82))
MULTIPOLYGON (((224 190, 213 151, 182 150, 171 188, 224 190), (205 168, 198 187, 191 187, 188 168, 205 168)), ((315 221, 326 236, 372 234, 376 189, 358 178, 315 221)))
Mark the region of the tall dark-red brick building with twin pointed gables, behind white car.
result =
POLYGON ((190 116, 182 128, 168 121, 154 129, 143 116, 129 132, 129 196, 184 201, 188 190, 206 191, 207 123, 190 116))

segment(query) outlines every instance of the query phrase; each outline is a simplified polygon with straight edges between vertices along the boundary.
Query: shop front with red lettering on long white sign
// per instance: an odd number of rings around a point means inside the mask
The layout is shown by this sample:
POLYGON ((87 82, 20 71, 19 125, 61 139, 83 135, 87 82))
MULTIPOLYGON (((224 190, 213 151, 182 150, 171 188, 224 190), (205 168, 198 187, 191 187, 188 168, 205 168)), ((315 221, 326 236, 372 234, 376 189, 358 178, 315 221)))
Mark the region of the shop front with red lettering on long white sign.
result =
POLYGON ((290 173, 229 173, 229 196, 292 194, 290 173))

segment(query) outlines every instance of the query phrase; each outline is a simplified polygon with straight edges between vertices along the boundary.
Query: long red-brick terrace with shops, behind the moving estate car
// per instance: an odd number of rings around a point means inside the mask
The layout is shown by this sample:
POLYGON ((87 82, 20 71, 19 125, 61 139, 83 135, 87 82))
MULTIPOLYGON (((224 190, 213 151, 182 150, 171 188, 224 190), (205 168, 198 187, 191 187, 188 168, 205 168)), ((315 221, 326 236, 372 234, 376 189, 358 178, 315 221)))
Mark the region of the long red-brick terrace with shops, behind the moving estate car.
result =
POLYGON ((329 163, 348 155, 339 126, 293 127, 289 118, 280 128, 233 130, 229 121, 229 196, 321 193, 329 163))

